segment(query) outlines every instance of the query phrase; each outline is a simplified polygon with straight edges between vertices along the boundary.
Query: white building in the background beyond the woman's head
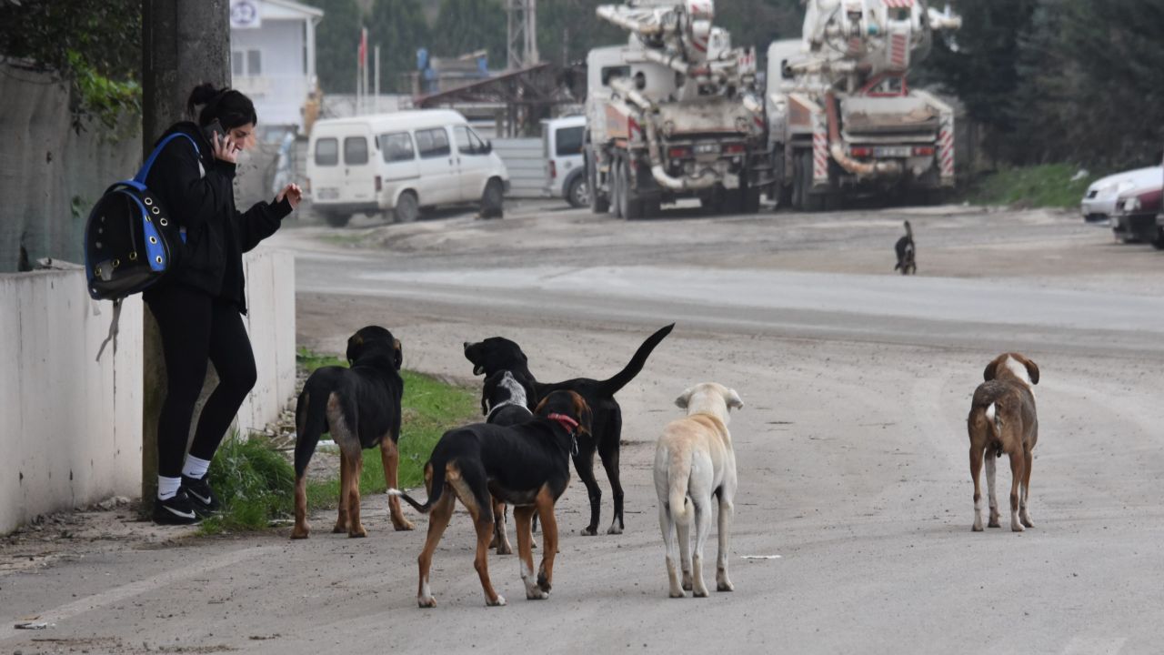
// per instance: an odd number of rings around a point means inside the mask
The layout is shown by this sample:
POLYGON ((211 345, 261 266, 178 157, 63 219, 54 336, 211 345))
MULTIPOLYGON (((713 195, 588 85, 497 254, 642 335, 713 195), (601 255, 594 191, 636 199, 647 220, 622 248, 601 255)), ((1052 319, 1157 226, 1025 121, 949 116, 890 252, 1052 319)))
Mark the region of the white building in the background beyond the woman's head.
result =
POLYGON ((322 17, 322 9, 293 0, 230 0, 230 85, 255 101, 263 132, 303 131, 322 17))

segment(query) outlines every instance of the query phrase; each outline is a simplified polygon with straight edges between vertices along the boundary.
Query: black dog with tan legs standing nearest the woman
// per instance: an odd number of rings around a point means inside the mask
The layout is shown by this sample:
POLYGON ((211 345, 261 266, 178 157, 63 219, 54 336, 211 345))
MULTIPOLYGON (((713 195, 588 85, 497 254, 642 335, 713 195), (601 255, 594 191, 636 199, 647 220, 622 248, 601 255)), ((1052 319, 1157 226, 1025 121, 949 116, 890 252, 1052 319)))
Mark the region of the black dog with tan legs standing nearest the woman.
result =
MULTIPOLYGON (((340 516, 333 533, 367 536, 360 522, 360 473, 363 449, 379 445, 384 480, 396 486, 400 464, 400 396, 404 380, 397 373, 404 360, 400 341, 383 328, 361 328, 348 339, 350 368, 325 366, 307 378, 296 406, 294 529, 291 538, 307 538, 307 480, 304 476, 324 432, 340 446, 340 516)), ((397 530, 411 530, 400 501, 389 499, 397 530)))

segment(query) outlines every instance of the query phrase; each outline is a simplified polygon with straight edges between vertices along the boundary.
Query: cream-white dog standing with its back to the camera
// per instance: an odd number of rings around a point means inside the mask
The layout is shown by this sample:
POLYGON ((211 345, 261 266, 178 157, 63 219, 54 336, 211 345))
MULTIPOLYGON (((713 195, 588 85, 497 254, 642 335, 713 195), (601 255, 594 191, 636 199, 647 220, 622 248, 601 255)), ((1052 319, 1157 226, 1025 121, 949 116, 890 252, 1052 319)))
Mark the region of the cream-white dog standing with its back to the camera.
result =
POLYGON ((711 527, 711 495, 719 499, 719 552, 716 558, 716 590, 732 591, 728 579, 728 542, 731 536, 733 499, 736 498, 736 453, 728 431, 728 410, 744 407, 734 389, 715 382, 696 385, 675 404, 687 416, 663 428, 655 448, 655 493, 659 494, 659 528, 667 547, 667 577, 670 597, 683 598, 683 590, 694 596, 708 596, 703 584, 703 544, 711 527), (695 512, 695 561, 691 561, 691 512, 695 512), (672 528, 679 531, 679 557, 683 569, 680 586, 675 570, 675 542, 672 528), (694 579, 693 579, 694 578, 694 579), (694 583, 694 584, 693 584, 694 583))

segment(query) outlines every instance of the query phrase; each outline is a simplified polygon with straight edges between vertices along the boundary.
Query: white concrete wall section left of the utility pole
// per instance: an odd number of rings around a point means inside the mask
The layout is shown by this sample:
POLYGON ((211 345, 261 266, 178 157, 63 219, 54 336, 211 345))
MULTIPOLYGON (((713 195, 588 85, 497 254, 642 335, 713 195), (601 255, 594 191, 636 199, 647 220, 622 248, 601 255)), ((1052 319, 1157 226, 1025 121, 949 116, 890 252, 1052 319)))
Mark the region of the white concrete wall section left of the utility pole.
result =
POLYGON ((85 274, 0 275, 0 534, 47 512, 141 491, 142 303, 121 310, 85 274))

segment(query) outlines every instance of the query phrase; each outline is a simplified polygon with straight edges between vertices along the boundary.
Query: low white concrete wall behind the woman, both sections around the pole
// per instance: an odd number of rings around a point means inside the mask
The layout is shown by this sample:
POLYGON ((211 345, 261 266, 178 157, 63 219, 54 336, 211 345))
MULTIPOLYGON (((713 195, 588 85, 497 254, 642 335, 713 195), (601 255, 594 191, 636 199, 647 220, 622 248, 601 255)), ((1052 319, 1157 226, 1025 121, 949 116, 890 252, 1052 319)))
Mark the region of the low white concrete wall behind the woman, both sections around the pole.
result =
MULTIPOLYGON (((260 247, 244 259, 258 381, 239 410, 262 430, 294 394, 294 258, 260 247)), ((142 302, 127 298, 116 350, 113 304, 90 300, 85 274, 0 274, 0 535, 40 514, 111 495, 142 478, 142 302)))

